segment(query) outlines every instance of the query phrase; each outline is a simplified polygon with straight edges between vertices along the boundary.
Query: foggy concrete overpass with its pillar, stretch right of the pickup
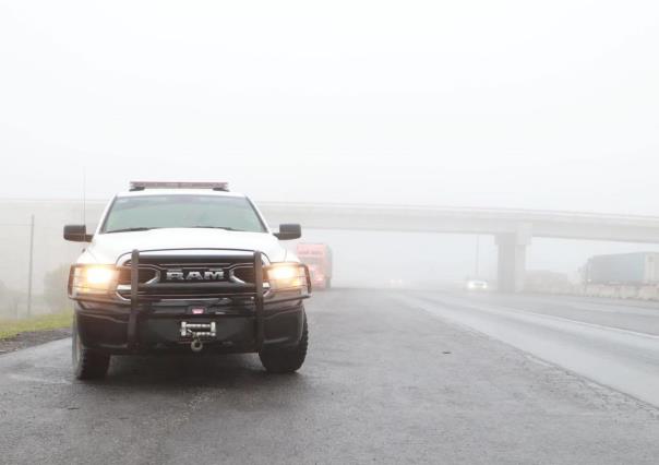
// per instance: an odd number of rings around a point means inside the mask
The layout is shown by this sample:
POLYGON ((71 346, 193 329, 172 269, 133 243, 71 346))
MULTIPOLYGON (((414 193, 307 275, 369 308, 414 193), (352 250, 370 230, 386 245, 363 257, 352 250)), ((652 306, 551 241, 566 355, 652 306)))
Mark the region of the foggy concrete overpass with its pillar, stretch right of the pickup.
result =
POLYGON ((260 202, 272 224, 307 228, 492 235, 499 288, 520 291, 534 237, 659 243, 659 217, 511 208, 260 202))

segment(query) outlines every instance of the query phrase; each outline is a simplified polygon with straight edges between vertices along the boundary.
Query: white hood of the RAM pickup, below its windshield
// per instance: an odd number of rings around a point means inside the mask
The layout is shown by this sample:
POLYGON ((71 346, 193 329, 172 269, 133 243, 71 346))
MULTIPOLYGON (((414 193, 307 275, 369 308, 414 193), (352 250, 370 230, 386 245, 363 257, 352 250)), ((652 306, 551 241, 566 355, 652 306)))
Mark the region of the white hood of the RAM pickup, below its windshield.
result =
MULTIPOLYGON (((119 257, 140 251, 164 249, 242 249, 260 250, 271 262, 297 261, 279 240, 267 233, 225 229, 164 228, 145 231, 112 233, 94 236, 79 263, 115 264, 119 257)), ((193 252, 191 252, 193 253, 193 252)))

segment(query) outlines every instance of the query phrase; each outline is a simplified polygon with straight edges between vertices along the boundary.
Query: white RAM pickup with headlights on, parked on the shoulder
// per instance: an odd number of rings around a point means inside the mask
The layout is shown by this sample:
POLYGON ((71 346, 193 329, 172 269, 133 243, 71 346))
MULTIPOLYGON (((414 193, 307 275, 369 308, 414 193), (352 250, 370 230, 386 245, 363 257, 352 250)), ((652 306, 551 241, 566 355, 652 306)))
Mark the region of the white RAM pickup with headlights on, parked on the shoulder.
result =
POLYGON ((88 246, 71 266, 72 359, 101 378, 113 355, 256 353, 269 372, 298 370, 309 330, 307 266, 225 182, 132 182, 98 227, 64 227, 88 246))

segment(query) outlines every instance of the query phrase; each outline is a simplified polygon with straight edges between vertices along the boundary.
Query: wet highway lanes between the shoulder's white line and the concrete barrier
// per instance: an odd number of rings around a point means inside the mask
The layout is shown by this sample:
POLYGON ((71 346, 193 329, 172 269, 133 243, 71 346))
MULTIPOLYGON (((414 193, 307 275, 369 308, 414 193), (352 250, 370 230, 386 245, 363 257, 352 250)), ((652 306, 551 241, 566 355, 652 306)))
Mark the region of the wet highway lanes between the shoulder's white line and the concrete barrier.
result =
POLYGON ((410 299, 433 315, 659 407, 657 303, 436 293, 410 299))

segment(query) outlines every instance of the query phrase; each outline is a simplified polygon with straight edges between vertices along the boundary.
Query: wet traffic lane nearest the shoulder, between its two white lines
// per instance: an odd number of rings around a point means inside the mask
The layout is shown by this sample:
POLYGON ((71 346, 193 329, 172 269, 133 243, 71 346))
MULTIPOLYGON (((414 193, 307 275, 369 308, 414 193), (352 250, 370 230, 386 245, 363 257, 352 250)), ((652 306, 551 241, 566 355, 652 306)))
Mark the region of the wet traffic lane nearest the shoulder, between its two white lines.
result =
POLYGON ((659 344, 655 337, 646 337, 644 333, 637 336, 540 319, 524 312, 480 311, 469 306, 456 309, 451 307, 450 301, 441 301, 443 296, 434 296, 435 300, 410 295, 395 297, 407 306, 411 301, 419 309, 448 323, 470 327, 600 384, 659 406, 659 344))

